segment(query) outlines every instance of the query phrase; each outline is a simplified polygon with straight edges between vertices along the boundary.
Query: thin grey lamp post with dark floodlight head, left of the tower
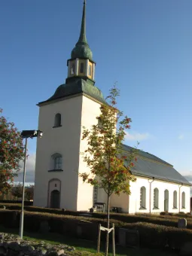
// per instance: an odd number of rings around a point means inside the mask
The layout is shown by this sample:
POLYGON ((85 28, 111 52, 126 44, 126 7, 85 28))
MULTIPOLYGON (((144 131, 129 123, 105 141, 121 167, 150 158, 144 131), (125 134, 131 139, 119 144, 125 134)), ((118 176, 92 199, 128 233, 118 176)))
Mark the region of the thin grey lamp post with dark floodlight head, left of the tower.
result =
POLYGON ((20 238, 23 239, 23 220, 24 220, 24 201, 25 201, 25 180, 26 180, 26 149, 27 149, 27 139, 43 136, 43 132, 40 130, 23 130, 21 135, 23 139, 26 139, 25 143, 25 158, 23 166, 23 193, 22 193, 22 206, 21 206, 21 215, 20 215, 20 238))

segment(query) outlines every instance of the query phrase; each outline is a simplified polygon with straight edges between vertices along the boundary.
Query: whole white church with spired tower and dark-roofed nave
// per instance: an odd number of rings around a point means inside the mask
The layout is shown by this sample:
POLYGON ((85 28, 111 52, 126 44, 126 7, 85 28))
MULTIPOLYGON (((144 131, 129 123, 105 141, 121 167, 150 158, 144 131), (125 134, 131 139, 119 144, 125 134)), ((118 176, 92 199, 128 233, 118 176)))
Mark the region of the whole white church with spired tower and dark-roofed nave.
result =
MULTIPOLYGON (((57 87, 50 99, 38 103, 38 129, 44 136, 37 141, 34 205, 88 211, 95 203, 106 204, 107 198, 104 190, 83 183, 78 175, 90 171, 80 154, 87 148, 81 140, 82 127, 96 124, 99 107, 105 104, 95 86, 96 63, 87 44, 85 2, 80 37, 67 66, 66 84, 57 87)), ((123 145, 123 150, 131 148, 123 145)), ((130 214, 190 212, 191 184, 170 163, 153 154, 139 151, 137 158, 131 195, 112 195, 111 208, 130 214)))

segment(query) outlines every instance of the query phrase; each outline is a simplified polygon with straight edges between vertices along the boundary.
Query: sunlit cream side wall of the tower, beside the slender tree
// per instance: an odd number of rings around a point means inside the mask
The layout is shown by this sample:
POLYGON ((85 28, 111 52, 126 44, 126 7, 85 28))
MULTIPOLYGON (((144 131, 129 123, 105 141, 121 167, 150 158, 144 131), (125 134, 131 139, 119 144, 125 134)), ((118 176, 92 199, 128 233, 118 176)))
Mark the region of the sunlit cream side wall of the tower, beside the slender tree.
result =
MULTIPOLYGON (((90 129, 93 124, 96 124, 100 114, 100 104, 83 96, 82 113, 81 113, 81 137, 80 139, 80 152, 87 149, 87 142, 82 140, 83 126, 90 129)), ((83 156, 80 155, 79 159, 79 172, 90 172, 87 163, 84 162, 83 156)), ((94 177, 91 177, 94 178, 94 177)), ((93 187, 90 184, 83 182, 82 178, 78 178, 78 210, 88 210, 93 207, 93 187)))

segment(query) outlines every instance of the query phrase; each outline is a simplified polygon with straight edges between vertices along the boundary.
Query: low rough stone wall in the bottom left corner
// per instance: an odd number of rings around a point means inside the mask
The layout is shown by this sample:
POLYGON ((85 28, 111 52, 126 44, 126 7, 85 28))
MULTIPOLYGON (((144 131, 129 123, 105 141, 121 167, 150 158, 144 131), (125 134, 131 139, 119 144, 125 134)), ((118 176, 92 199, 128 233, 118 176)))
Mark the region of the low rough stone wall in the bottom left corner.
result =
POLYGON ((75 248, 68 245, 50 245, 44 241, 27 241, 19 236, 0 233, 0 256, 67 256, 75 248))

